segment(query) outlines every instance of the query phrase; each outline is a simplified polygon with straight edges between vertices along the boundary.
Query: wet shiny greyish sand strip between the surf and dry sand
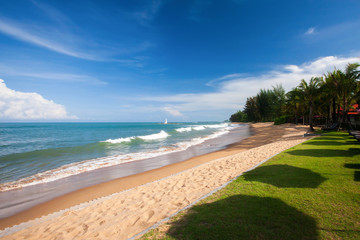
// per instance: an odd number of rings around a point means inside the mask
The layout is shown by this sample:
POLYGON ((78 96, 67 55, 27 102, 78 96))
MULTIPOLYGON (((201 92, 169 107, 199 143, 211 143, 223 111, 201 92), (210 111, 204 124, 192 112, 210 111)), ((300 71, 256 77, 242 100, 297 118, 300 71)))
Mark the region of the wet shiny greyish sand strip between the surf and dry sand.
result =
MULTIPOLYGON (((80 189, 109 182, 114 179, 143 173, 152 169, 185 161, 195 156, 224 149, 229 144, 239 142, 248 137, 250 135, 249 129, 250 127, 247 124, 234 124, 233 126, 226 127, 224 129, 226 131, 223 133, 226 134, 220 134, 219 136, 213 138, 208 135, 204 135, 202 138, 206 139, 205 141, 194 138, 195 143, 199 141, 203 143, 193 144, 186 150, 174 152, 170 151, 168 153, 164 152, 165 154, 160 156, 129 161, 112 166, 101 166, 100 168, 93 169, 91 171, 88 171, 87 168, 85 168, 81 169, 82 173, 72 173, 70 176, 59 179, 56 179, 58 175, 55 173, 55 176, 50 176, 49 179, 51 181, 49 182, 42 182, 41 179, 40 181, 37 181, 38 178, 33 175, 31 177, 35 179, 35 182, 33 182, 35 184, 22 187, 21 182, 24 179, 20 179, 20 181, 16 184, 16 186, 19 187, 17 189, 1 192, 0 187, 0 222, 2 219, 80 189)), ((164 147, 162 147, 162 149, 164 149, 164 147)), ((89 161, 92 162, 94 160, 89 161)), ((111 165, 112 160, 109 159, 109 161, 111 165)), ((3 184, 3 186, 4 185, 6 184, 3 184)), ((41 208, 41 210, 43 210, 43 208, 41 208)))

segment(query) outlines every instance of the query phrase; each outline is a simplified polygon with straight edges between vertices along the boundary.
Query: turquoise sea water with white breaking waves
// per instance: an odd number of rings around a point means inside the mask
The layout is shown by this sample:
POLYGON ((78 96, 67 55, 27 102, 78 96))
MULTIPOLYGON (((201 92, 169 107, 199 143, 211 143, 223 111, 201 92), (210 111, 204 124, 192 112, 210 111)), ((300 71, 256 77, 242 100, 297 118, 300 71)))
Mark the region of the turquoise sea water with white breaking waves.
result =
POLYGON ((0 188, 9 190, 166 153, 228 133, 228 123, 0 123, 0 188))

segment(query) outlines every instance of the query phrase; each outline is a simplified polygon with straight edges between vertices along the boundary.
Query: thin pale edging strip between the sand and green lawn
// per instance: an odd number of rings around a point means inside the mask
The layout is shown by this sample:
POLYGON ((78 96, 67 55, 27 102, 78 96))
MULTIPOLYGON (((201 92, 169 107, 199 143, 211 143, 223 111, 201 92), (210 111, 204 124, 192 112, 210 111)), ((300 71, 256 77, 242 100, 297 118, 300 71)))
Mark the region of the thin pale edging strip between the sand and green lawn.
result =
MULTIPOLYGON (((207 198, 207 197, 210 197, 211 195, 213 195, 214 193, 220 191, 221 189, 223 189, 224 187, 226 187, 227 185, 229 185, 229 184, 232 183, 233 181, 236 181, 236 180, 237 180, 241 175, 243 175, 244 173, 247 173, 247 172, 250 172, 250 171, 254 170, 255 168, 257 168, 258 166, 260 166, 260 165, 264 164, 265 162, 269 161, 270 159, 272 159, 272 158, 275 157, 276 155, 278 155, 278 154, 280 154, 280 153, 282 153, 282 152, 284 152, 284 151, 286 151, 286 150, 288 150, 288 149, 290 149, 290 148, 292 148, 292 147, 295 147, 295 146, 297 146, 297 145, 299 145, 299 144, 302 144, 303 142, 305 142, 305 141, 307 141, 307 140, 309 140, 309 139, 306 139, 306 140, 304 140, 304 141, 302 141, 302 142, 300 142, 300 143, 298 143, 298 144, 296 144, 296 145, 294 145, 294 146, 291 146, 291 147, 289 147, 289 148, 287 148, 287 149, 285 149, 285 150, 283 150, 283 151, 281 151, 281 152, 278 152, 278 153, 272 155, 271 157, 265 159, 264 161, 258 163, 257 165, 255 165, 255 166, 249 168, 248 170, 240 173, 238 176, 236 176, 236 177, 234 177, 233 179, 229 180, 228 182, 224 183, 224 184, 221 185, 220 187, 215 188, 215 189, 212 190, 211 192, 205 194, 204 196, 202 196, 202 197, 200 197, 199 199, 195 200, 194 202, 190 203, 190 204, 187 205, 186 207, 178 210, 177 212, 175 212, 174 214, 170 215, 169 217, 166 217, 166 218, 160 220, 159 222, 155 223, 154 225, 152 225, 151 227, 145 229, 144 231, 135 234, 135 235, 132 236, 131 238, 128 238, 128 240, 134 240, 134 239, 136 239, 137 237, 140 237, 140 236, 144 235, 145 233, 149 232, 150 230, 159 227, 162 223, 164 223, 164 222, 166 222, 166 221, 169 221, 171 218, 175 217, 178 213, 180 213, 180 212, 182 212, 182 211, 184 211, 184 210, 186 210, 186 209, 194 206, 195 204, 197 204, 197 203, 200 202, 201 200, 203 200, 203 199, 205 199, 205 198, 207 198)), ((250 150, 250 149, 249 149, 249 150, 250 150)), ((224 157, 224 158, 226 158, 226 157, 224 157)), ((216 159, 216 160, 221 160, 221 159, 223 159, 223 158, 216 159)), ((211 161, 211 162, 212 162, 212 161, 211 161)), ((207 164, 207 163, 204 163, 204 164, 207 164)), ((201 165, 199 165, 199 166, 202 166, 202 165, 204 165, 204 164, 201 164, 201 165)), ((199 167, 199 166, 196 166, 196 167, 199 167)), ((196 167, 194 167, 194 168, 196 168, 196 167)), ((188 170, 190 170, 190 169, 188 169, 188 170)))

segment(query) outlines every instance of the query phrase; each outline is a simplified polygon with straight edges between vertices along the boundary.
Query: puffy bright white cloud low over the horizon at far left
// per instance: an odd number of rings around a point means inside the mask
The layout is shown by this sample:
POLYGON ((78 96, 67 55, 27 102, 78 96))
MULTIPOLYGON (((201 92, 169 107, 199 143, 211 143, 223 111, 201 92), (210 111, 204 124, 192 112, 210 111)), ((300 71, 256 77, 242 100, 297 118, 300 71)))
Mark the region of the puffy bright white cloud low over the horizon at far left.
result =
POLYGON ((63 105, 43 98, 38 93, 24 93, 12 90, 0 79, 1 120, 64 120, 76 119, 69 116, 63 105))

